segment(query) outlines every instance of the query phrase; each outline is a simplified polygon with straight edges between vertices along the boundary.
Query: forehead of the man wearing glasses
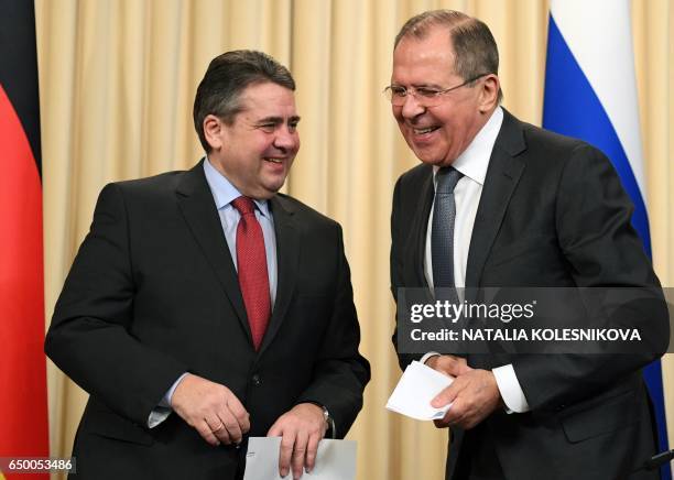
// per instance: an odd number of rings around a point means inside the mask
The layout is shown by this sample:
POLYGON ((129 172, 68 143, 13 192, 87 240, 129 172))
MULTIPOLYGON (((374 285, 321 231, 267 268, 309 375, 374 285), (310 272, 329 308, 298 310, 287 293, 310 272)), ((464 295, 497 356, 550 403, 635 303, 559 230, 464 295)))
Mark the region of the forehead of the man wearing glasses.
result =
POLYGON ((423 39, 405 36, 393 51, 391 83, 442 84, 454 77, 454 48, 446 28, 432 26, 423 39))

